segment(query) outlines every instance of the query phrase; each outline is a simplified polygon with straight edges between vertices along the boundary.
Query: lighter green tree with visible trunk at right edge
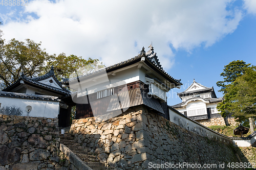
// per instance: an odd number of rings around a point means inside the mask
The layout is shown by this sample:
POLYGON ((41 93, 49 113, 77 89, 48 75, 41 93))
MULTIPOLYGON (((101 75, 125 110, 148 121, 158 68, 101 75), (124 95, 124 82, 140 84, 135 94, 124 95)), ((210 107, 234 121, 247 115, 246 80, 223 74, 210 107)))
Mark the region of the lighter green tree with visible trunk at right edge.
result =
POLYGON ((227 94, 233 93, 229 112, 232 112, 239 122, 249 119, 250 130, 254 131, 252 118, 256 117, 256 67, 246 68, 244 74, 227 88, 227 94))

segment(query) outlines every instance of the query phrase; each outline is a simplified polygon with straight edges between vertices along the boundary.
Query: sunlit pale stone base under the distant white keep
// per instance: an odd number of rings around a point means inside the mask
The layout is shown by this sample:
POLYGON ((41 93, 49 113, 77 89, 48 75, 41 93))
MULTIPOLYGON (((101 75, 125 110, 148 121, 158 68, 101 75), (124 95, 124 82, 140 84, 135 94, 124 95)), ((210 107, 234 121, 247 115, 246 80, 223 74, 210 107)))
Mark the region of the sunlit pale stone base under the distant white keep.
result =
MULTIPOLYGON (((226 126, 225 119, 223 117, 205 119, 205 120, 196 120, 198 123, 210 127, 210 126, 226 126)), ((238 123, 234 118, 228 118, 228 124, 231 126, 238 126, 238 123)))

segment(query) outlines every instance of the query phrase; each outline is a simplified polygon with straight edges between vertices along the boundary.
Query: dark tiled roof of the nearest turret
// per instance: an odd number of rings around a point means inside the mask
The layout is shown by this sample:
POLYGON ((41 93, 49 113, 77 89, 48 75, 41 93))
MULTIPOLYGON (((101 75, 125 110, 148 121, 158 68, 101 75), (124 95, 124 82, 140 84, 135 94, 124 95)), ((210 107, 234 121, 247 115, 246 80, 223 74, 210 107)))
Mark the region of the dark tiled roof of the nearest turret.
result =
MULTIPOLYGON (((176 84, 182 85, 182 83, 180 82, 181 80, 174 79, 166 71, 163 70, 161 65, 158 65, 157 63, 153 62, 151 54, 146 54, 145 51, 144 51, 144 47, 142 48, 142 51, 140 52, 140 54, 138 56, 135 56, 135 57, 133 57, 131 59, 119 62, 117 64, 114 64, 114 65, 111 65, 111 66, 108 66, 108 67, 104 67, 104 68, 98 69, 97 71, 91 72, 90 74, 79 76, 79 79, 81 80, 81 79, 83 79, 85 77, 88 77, 88 76, 91 76, 91 75, 95 75, 95 74, 98 74, 98 73, 103 72, 103 71, 106 71, 106 72, 111 71, 111 69, 117 68, 118 66, 122 66, 122 65, 127 64, 127 63, 131 63, 131 62, 133 62, 133 61, 135 61, 135 60, 137 60, 139 58, 142 58, 142 57, 145 57, 145 59, 147 59, 147 61, 149 61, 153 66, 155 66, 158 70, 160 70, 162 72, 162 74, 166 75, 168 78, 170 78, 176 84)), ((71 82, 71 81, 74 81, 74 80, 77 80, 77 78, 72 78, 69 81, 71 82)), ((69 81, 65 80, 65 81, 62 82, 62 84, 67 84, 67 83, 69 83, 69 81)))

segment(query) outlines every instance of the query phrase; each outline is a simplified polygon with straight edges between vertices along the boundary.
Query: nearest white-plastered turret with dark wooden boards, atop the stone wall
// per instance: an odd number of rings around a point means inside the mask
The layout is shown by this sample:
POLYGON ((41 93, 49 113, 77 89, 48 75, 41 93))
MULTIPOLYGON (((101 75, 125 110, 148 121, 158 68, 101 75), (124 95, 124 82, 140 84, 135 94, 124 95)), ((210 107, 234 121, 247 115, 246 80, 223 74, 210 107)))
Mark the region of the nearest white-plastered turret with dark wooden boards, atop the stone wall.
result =
MULTIPOLYGON (((180 88, 180 80, 163 70, 152 45, 135 57, 63 82, 75 93, 76 119, 124 113, 144 105, 169 119, 166 92, 180 88)), ((85 69, 83 69, 85 70, 85 69)))

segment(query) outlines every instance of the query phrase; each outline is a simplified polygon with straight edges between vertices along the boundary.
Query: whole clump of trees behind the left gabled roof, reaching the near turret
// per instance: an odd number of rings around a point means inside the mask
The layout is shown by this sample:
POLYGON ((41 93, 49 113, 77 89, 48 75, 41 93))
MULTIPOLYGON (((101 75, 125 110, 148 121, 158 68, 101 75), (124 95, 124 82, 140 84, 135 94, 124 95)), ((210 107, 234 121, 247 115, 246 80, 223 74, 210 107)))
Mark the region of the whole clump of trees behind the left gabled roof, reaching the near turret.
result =
POLYGON ((90 65, 90 68, 98 65, 103 67, 98 59, 86 60, 75 55, 66 56, 65 53, 58 56, 49 55, 45 49, 41 49, 41 42, 36 43, 30 39, 26 39, 26 42, 12 39, 5 44, 1 36, 2 32, 0 32, 0 89, 15 82, 22 72, 27 77, 37 77, 46 74, 52 65, 59 81, 61 78, 69 78, 73 72, 87 65, 90 65))

